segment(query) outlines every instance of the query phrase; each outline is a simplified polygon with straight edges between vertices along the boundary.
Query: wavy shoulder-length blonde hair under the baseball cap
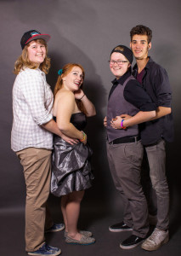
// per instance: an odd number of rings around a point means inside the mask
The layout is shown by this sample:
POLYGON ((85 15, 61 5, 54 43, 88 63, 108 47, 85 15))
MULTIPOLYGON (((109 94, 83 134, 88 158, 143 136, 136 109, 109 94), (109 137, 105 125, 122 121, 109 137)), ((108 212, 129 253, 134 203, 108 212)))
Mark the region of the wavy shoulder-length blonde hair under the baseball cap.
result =
POLYGON ((48 47, 47 47, 47 43, 43 40, 43 39, 36 39, 34 40, 36 41, 38 44, 43 44, 45 46, 46 49, 46 56, 44 61, 40 64, 40 66, 37 63, 31 62, 28 58, 28 47, 30 46, 30 43, 25 45, 25 48, 22 50, 22 54, 18 57, 17 61, 15 61, 14 63, 14 73, 15 74, 19 74, 20 70, 23 69, 24 67, 29 67, 31 69, 36 69, 37 67, 40 68, 40 70, 42 70, 42 72, 44 73, 48 73, 49 68, 50 68, 50 58, 48 58, 47 54, 48 54, 48 47))

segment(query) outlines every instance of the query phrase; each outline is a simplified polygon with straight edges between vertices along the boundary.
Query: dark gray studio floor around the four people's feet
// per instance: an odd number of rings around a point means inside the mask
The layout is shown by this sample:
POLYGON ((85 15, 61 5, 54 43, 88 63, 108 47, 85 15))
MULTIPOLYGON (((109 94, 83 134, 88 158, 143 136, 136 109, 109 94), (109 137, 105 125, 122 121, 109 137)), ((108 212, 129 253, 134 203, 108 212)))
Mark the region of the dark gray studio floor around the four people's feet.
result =
MULTIPOLYGON (((24 209, 16 211, 0 212, 1 219, 1 256, 25 256, 24 240, 24 209)), ((54 211, 54 220, 62 221, 61 213, 54 211)), ((79 227, 91 230, 96 239, 95 244, 89 246, 69 245, 65 243, 64 231, 46 234, 49 245, 60 247, 61 255, 67 256, 179 256, 181 255, 181 228, 172 221, 170 228, 170 241, 155 252, 146 252, 141 247, 132 250, 122 250, 120 242, 131 235, 131 232, 112 233, 108 230, 110 224, 116 224, 122 220, 120 209, 114 212, 107 211, 101 205, 97 207, 87 206, 82 203, 79 227)), ((152 227, 153 228, 153 227, 152 227)))

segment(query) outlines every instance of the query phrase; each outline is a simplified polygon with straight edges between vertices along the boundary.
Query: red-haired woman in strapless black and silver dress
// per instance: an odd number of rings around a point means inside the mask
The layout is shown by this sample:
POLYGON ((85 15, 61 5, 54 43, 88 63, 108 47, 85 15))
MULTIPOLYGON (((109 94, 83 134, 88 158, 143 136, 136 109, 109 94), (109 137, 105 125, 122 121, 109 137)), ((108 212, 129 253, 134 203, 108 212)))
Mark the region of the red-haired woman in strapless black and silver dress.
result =
POLYGON ((66 143, 54 136, 51 191, 61 196, 61 210, 65 221, 65 241, 76 244, 92 244, 95 239, 89 231, 77 229, 80 204, 84 190, 91 187, 93 173, 89 159, 92 150, 87 135, 82 131, 86 118, 95 115, 93 103, 82 90, 83 67, 69 63, 59 70, 54 89, 54 119, 65 136, 78 143, 66 143))

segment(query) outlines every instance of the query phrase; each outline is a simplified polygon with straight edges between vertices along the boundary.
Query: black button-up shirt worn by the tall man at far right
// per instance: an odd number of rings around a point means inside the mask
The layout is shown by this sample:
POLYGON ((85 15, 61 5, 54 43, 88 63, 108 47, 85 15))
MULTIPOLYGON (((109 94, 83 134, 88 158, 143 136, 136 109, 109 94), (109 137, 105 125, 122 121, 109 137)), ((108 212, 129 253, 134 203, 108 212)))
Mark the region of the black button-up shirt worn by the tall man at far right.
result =
MULTIPOLYGON (((137 64, 133 67, 133 76, 138 73, 137 64)), ((150 95, 156 106, 171 108, 172 90, 166 70, 151 58, 144 67, 142 79, 144 90, 150 95)), ((173 141, 173 114, 167 114, 153 121, 139 125, 141 140, 144 145, 157 143, 161 137, 168 142, 173 141)))

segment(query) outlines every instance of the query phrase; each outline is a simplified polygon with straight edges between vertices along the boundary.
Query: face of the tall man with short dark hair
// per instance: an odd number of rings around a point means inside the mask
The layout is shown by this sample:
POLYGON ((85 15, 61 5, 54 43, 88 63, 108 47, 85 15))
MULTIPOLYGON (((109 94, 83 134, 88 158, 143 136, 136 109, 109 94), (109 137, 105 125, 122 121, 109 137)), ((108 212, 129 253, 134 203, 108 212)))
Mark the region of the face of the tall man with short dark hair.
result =
POLYGON ((148 57, 151 43, 148 44, 148 37, 146 35, 134 35, 130 43, 133 55, 136 60, 143 60, 148 57))

